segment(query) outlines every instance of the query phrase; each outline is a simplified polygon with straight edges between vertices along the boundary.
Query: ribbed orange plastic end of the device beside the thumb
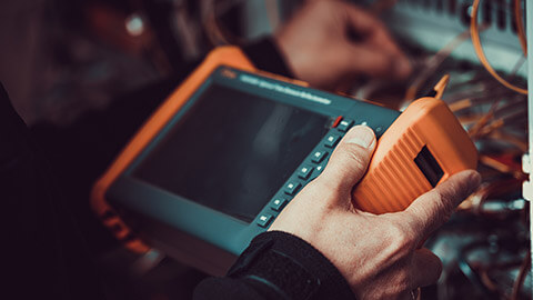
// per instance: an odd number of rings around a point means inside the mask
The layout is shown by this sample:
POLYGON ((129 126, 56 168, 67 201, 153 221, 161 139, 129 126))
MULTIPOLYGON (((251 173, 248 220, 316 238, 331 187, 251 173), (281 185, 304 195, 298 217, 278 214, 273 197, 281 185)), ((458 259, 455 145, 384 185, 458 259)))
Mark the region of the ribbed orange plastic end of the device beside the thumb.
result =
POLYGON ((475 169, 477 150, 442 100, 422 98, 400 114, 378 142, 366 174, 354 188, 352 201, 372 213, 401 211, 433 187, 414 162, 428 147, 443 176, 475 169))

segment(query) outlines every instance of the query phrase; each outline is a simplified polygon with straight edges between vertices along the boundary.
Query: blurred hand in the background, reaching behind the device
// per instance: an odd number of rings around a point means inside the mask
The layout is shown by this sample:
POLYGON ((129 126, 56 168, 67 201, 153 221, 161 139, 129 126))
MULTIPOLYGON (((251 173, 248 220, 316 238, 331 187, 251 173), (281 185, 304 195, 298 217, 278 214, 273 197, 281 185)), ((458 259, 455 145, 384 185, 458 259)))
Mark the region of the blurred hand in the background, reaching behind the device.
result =
POLYGON ((385 27, 342 0, 308 1, 275 40, 294 76, 316 88, 348 87, 359 76, 405 79, 412 71, 385 27))

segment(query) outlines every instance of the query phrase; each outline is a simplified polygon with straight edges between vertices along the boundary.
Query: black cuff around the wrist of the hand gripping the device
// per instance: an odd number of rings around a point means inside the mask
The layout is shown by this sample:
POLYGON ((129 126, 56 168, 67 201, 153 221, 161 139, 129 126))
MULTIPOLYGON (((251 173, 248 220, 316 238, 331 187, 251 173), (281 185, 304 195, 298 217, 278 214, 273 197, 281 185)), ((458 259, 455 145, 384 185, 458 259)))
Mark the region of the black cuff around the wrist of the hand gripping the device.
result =
POLYGON ((228 276, 261 281, 290 299, 354 299, 345 279, 319 250, 282 231, 258 236, 228 276))

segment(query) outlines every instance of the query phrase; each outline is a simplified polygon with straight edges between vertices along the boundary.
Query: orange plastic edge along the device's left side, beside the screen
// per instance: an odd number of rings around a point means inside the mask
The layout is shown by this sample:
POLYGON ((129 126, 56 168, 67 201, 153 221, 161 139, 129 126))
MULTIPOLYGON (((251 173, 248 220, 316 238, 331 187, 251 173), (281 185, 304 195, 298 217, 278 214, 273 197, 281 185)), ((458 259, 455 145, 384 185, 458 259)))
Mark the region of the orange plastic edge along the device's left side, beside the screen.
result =
MULTIPOLYGON (((118 213, 105 201, 105 192, 119 176, 130 166, 149 142, 161 131, 170 119, 183 107, 194 91, 220 66, 238 68, 244 71, 257 71, 252 62, 237 47, 220 47, 211 51, 204 61, 183 83, 159 107, 150 119, 141 127, 134 138, 125 146, 111 167, 101 177, 91 194, 91 207, 115 238, 138 253, 150 250, 145 243, 133 234, 131 229, 120 219, 118 213)), ((286 80, 286 79, 285 79, 286 80)))

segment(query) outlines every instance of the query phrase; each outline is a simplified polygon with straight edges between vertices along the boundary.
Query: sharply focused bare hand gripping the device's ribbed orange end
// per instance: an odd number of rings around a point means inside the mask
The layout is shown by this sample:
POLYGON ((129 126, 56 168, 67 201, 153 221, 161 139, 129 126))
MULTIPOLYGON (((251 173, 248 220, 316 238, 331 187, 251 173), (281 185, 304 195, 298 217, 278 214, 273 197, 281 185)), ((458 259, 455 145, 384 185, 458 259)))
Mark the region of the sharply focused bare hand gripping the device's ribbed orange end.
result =
POLYGON ((339 269, 358 299, 411 299, 412 290, 434 283, 442 270, 440 259, 418 246, 480 184, 480 174, 473 170, 454 174, 401 212, 363 212, 352 206, 351 192, 374 148, 370 128, 352 128, 323 173, 269 230, 311 243, 339 269))

